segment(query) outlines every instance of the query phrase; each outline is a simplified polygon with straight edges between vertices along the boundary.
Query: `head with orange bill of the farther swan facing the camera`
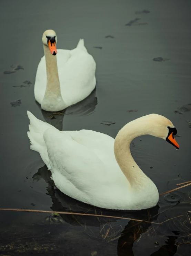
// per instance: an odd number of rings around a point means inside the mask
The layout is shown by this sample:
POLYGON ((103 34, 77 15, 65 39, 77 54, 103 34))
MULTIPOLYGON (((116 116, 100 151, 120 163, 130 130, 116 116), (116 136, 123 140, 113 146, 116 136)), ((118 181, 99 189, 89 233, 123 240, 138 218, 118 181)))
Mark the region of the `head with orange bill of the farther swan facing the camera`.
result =
POLYGON ((57 48, 56 48, 57 35, 54 30, 48 29, 48 30, 44 31, 44 33, 42 35, 42 43, 49 47, 50 53, 52 55, 57 54, 57 48))

